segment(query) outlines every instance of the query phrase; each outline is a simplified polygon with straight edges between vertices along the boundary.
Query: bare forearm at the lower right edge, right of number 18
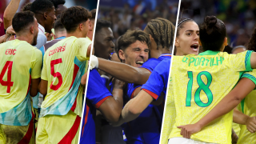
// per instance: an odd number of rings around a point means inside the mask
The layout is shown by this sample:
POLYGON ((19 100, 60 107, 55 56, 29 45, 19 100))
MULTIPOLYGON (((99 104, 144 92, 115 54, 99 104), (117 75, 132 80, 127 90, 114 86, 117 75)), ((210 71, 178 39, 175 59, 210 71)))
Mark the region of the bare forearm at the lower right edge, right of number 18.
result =
POLYGON ((233 122, 240 125, 246 125, 246 128, 250 131, 250 133, 256 132, 256 117, 250 117, 246 114, 243 114, 237 108, 234 108, 233 122))

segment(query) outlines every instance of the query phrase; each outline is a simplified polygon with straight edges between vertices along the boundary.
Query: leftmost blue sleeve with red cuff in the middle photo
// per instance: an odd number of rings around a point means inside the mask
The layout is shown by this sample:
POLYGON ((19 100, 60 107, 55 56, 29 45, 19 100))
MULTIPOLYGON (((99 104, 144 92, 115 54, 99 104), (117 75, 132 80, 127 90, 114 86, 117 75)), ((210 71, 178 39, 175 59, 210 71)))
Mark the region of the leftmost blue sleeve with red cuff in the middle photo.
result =
POLYGON ((87 85, 86 99, 88 99, 97 109, 106 98, 112 97, 110 91, 102 82, 101 76, 96 69, 90 70, 89 80, 87 85))

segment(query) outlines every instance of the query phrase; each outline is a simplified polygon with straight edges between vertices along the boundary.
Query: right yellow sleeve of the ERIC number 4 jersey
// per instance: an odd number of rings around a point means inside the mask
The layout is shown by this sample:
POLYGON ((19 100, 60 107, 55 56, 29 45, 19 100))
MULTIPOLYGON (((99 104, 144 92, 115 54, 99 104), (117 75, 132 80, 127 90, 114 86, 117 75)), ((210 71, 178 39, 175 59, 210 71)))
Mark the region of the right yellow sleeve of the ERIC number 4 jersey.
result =
POLYGON ((40 78, 42 70, 42 52, 38 49, 34 50, 34 58, 31 66, 31 78, 40 78))

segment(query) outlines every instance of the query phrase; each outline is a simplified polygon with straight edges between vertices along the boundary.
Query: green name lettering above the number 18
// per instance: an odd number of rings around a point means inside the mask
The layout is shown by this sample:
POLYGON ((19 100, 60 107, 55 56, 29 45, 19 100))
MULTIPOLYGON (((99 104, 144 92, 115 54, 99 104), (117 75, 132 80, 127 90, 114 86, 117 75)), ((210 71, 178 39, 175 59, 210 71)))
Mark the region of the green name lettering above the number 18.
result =
POLYGON ((182 62, 188 63, 190 65, 194 66, 218 66, 219 64, 222 65, 222 62, 224 61, 223 57, 216 57, 215 58, 188 58, 184 57, 182 59, 182 62))

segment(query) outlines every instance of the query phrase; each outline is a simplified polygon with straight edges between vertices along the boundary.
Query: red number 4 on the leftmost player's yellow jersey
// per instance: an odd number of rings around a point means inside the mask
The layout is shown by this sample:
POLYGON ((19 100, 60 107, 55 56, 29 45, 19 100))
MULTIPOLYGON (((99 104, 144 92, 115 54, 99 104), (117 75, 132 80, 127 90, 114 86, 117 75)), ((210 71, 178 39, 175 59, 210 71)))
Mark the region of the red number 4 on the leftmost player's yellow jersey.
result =
POLYGON ((10 93, 10 86, 14 85, 14 82, 11 81, 11 70, 13 68, 13 62, 12 61, 7 61, 6 65, 3 66, 2 72, 0 74, 0 83, 2 86, 7 86, 6 93, 10 93), (7 70, 8 69, 8 70, 7 70), (3 76, 6 74, 7 70, 7 81, 3 80, 3 76))

